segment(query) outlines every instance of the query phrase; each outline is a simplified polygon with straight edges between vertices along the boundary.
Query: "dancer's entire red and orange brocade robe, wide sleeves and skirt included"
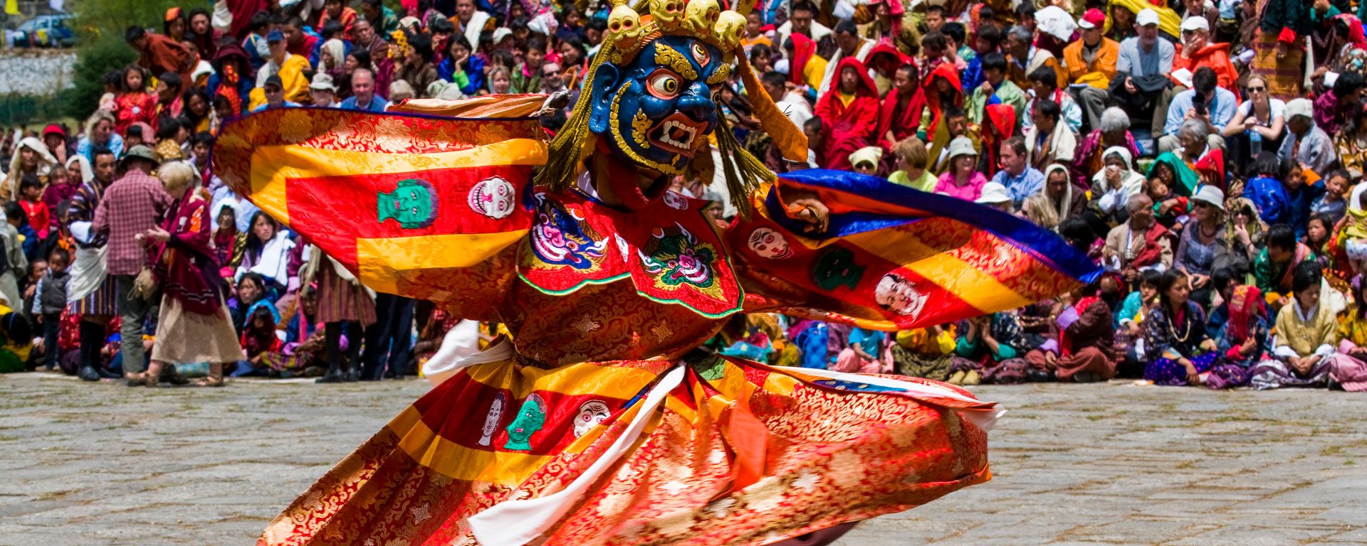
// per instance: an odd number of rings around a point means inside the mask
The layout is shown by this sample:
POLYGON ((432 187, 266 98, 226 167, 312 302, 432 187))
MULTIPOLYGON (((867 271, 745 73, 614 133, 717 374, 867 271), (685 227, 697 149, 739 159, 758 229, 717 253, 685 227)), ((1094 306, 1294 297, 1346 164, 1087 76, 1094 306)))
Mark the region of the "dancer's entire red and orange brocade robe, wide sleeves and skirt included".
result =
POLYGON ((1016 307, 1095 276, 1084 257, 1005 213, 848 172, 787 173, 725 229, 674 192, 637 210, 551 192, 530 183, 547 147, 522 117, 540 102, 491 119, 278 109, 219 138, 216 172, 366 285, 513 333, 261 545, 760 545, 990 478, 997 408, 966 390, 681 358, 734 313, 893 330, 1016 307), (827 232, 797 235, 779 191, 817 194, 827 232))

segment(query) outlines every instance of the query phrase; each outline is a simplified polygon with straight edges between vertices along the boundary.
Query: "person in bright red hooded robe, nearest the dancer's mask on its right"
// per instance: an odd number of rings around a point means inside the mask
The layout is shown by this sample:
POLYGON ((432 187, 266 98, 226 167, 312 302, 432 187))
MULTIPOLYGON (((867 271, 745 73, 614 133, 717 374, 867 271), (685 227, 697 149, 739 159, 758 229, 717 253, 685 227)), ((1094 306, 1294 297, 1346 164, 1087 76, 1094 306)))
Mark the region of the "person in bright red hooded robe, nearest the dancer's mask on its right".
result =
POLYGON ((839 86, 816 102, 816 116, 827 131, 823 167, 849 171, 849 156, 875 141, 878 87, 858 59, 842 59, 835 72, 839 74, 839 86))

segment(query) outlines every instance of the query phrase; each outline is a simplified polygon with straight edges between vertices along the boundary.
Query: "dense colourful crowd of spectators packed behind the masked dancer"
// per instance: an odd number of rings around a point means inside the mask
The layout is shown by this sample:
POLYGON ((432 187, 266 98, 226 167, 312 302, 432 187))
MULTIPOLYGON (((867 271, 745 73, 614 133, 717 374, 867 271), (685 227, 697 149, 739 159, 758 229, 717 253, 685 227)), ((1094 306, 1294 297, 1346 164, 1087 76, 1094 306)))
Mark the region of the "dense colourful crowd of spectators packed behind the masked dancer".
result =
MULTIPOLYGON (((271 108, 577 94, 611 8, 215 5, 130 27, 138 60, 105 76, 82 127, 0 136, 0 367, 130 385, 413 374, 461 317, 369 292, 241 199, 213 173, 215 135, 271 108), (171 280, 160 299, 149 278, 171 280), (204 296, 216 283, 230 287, 224 302, 204 296)), ((774 171, 848 169, 998 207, 1106 273, 1054 300, 897 333, 738 315, 709 345, 962 385, 1367 390, 1363 11, 1349 0, 756 1, 742 44, 807 132, 808 161, 782 160, 734 76, 718 101, 774 171)), ((565 113, 543 119, 548 132, 565 113)), ((734 213, 725 183, 674 184, 716 201, 719 220, 734 213)))

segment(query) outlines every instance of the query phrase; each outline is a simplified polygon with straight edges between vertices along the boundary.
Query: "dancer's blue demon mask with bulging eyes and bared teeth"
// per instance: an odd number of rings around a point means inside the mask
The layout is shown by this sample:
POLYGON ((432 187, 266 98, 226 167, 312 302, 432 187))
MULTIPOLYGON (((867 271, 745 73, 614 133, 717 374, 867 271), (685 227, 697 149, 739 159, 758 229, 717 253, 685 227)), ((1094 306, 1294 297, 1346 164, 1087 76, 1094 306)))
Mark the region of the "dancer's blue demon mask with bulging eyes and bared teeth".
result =
POLYGON ((700 40, 664 35, 593 74, 589 130, 630 162, 674 175, 716 128, 714 93, 730 66, 700 40))

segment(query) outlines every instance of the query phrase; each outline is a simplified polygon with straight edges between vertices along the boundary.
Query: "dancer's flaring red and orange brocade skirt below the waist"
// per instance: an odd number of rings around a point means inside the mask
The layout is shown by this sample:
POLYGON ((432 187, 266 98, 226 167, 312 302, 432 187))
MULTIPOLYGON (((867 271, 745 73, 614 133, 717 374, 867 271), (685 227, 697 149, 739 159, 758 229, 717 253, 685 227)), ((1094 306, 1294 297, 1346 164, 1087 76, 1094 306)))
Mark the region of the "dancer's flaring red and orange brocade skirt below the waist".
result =
MULTIPOLYGON (((511 355, 495 345, 481 355, 511 355)), ((994 404, 915 378, 483 358, 342 460, 260 545, 763 545, 990 479, 994 404)))

